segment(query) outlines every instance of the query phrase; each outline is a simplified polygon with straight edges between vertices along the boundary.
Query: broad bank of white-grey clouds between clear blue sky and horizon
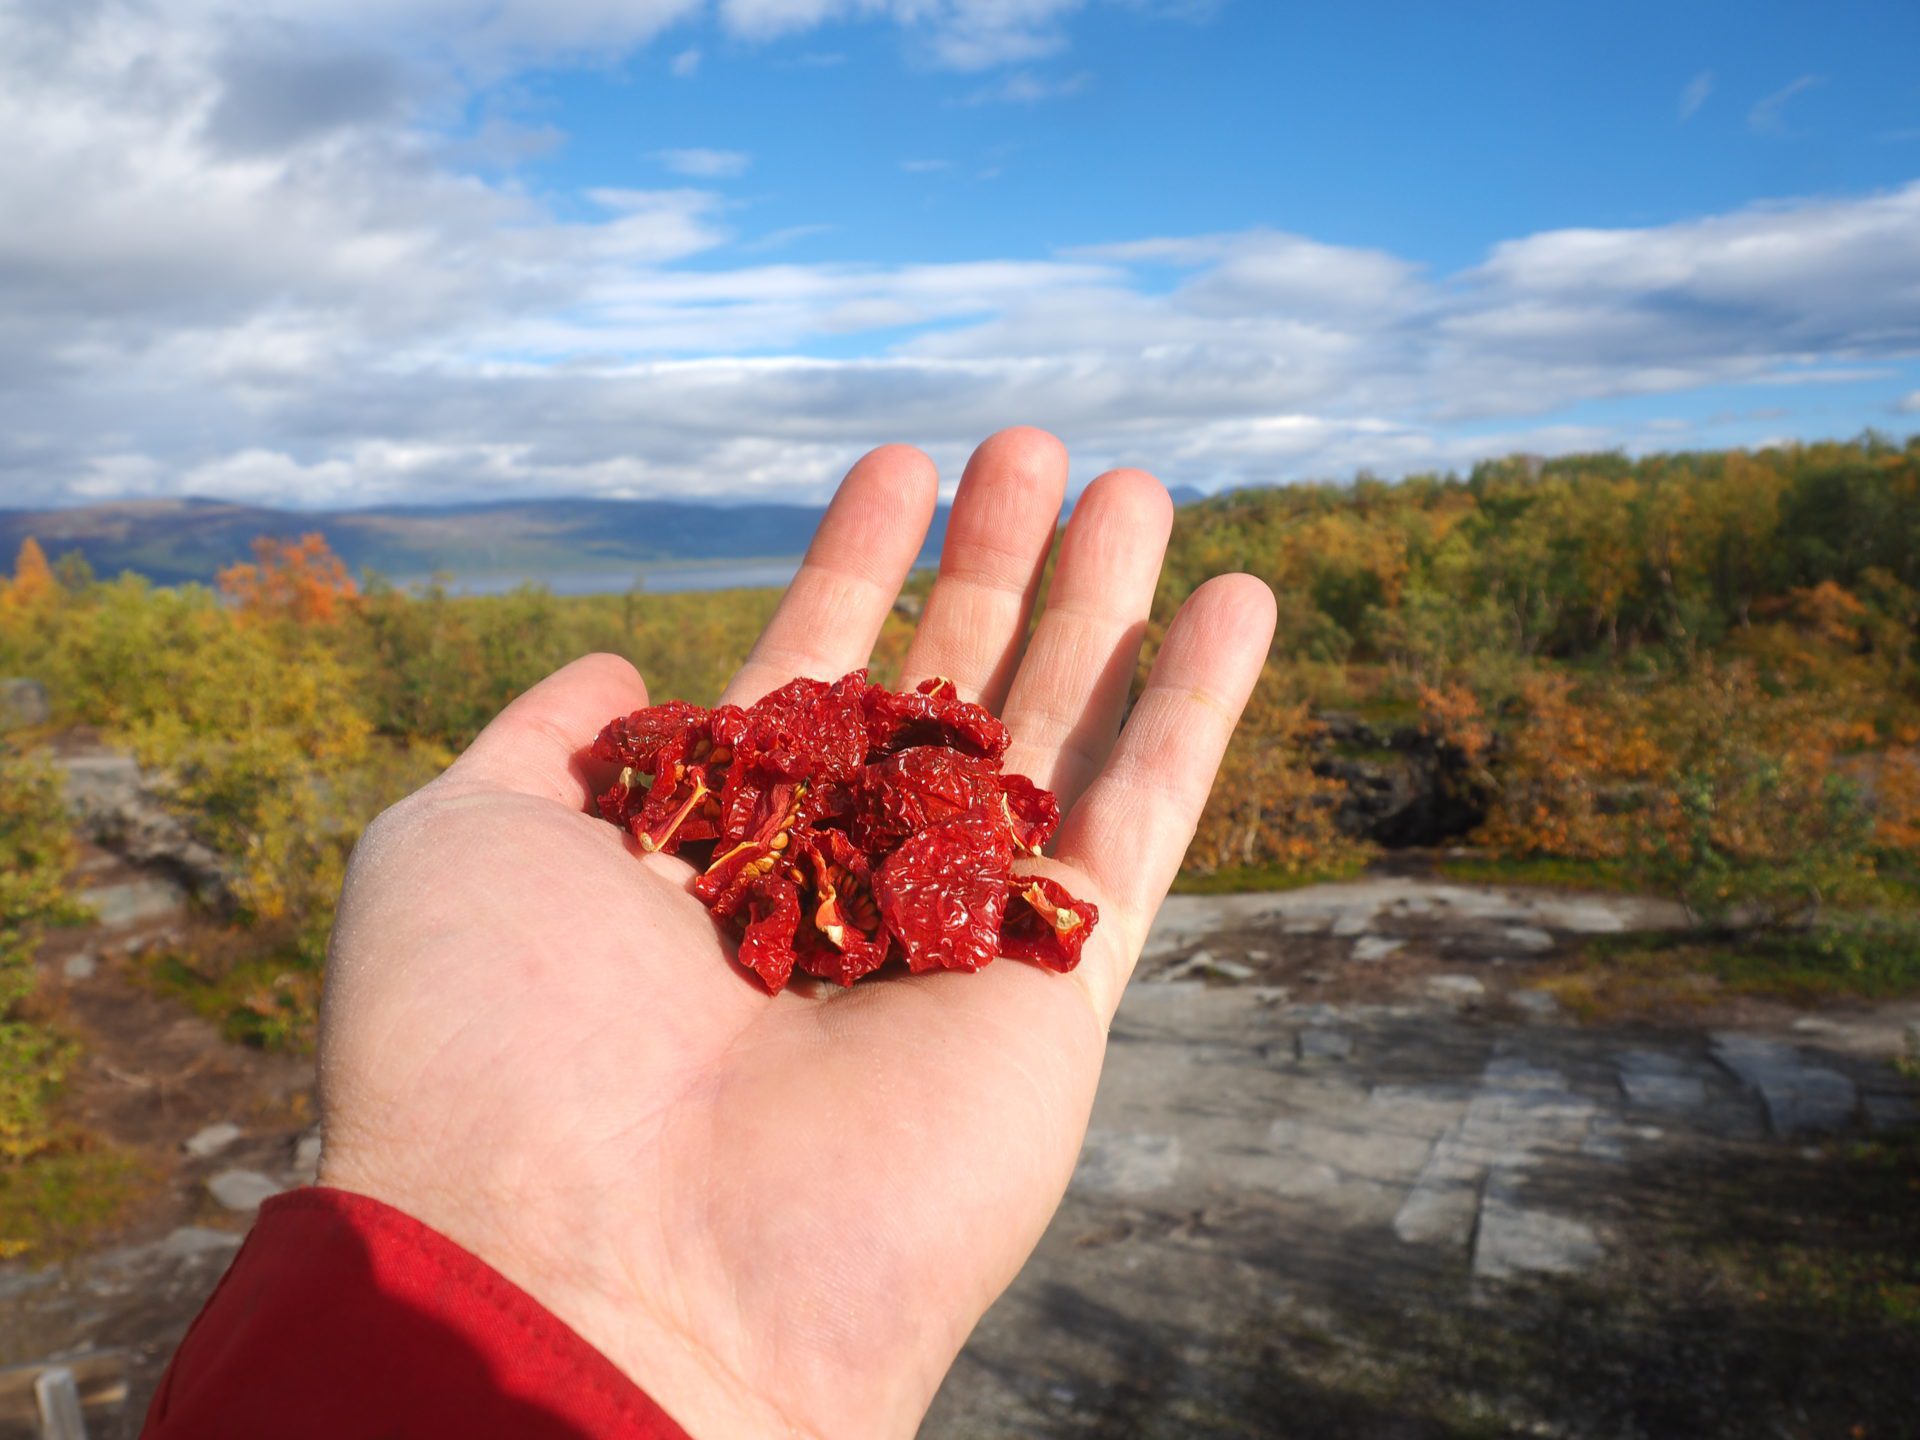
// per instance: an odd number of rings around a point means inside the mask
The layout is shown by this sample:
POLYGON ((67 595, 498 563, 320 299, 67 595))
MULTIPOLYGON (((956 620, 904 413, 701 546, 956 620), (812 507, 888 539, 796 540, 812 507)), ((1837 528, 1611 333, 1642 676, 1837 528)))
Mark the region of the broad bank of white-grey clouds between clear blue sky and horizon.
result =
POLYGON ((879 440, 956 472, 1012 419, 1187 484, 1392 472, 1672 444, 1567 413, 1920 355, 1920 182, 1524 234, 1459 273, 1279 230, 774 263, 820 227, 730 250, 749 211, 710 184, 561 213, 455 169, 405 119, 444 77, 351 36, 301 52, 119 0, 36 15, 0 25, 8 503, 818 495, 879 440), (301 56, 288 96, 261 90, 301 56))

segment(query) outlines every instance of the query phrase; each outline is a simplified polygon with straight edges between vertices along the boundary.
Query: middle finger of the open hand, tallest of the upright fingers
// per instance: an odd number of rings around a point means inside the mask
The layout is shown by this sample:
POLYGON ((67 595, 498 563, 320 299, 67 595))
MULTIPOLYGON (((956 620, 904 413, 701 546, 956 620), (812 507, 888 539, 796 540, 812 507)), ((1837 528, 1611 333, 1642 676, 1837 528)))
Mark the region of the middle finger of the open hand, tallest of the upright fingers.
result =
POLYGON ((900 687, 947 676, 998 710, 1014 684, 1027 616, 1068 490, 1068 451, 1044 430, 1002 430, 968 461, 900 687))

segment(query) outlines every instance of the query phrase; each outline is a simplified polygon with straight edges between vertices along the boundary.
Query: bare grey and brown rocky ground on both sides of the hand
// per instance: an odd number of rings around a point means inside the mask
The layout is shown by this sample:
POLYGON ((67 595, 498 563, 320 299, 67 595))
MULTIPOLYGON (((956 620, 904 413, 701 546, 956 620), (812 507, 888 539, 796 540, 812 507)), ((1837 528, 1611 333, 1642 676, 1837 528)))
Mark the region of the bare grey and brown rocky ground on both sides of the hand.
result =
MULTIPOLYGON (((125 799, 136 776, 88 755, 77 803, 125 799)), ((138 975, 194 924, 192 870, 90 824, 102 924, 42 964, 88 1046, 83 1119, 159 1181, 113 1248, 0 1265, 0 1365, 113 1352, 125 1398, 100 1390, 90 1434, 131 1436, 319 1137, 303 1062, 138 975)), ((1538 987, 1584 937, 1682 922, 1421 874, 1175 897, 1073 1187, 924 1434, 1920 1434, 1912 1327, 1809 1334, 1726 1273, 1822 1215, 1832 1244, 1880 1223, 1859 1156, 1914 1117, 1891 1062, 1920 1004, 1580 1025, 1538 987)))

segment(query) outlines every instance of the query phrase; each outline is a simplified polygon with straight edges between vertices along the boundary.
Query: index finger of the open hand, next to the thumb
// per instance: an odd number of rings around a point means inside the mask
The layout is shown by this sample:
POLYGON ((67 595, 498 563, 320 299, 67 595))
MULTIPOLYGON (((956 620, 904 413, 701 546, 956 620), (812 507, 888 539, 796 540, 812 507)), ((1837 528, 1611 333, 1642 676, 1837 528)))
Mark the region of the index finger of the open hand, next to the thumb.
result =
POLYGON ((795 676, 839 680, 879 628, 933 522, 939 476, 912 445, 883 445, 841 480, 799 574, 720 699, 751 705, 795 676))

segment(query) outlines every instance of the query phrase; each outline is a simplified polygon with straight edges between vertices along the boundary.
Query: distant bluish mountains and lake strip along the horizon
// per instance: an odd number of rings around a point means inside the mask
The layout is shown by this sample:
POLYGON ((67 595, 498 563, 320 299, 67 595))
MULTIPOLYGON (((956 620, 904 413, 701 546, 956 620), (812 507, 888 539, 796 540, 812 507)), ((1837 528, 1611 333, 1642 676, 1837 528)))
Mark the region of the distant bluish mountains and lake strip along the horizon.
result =
MULTIPOLYGON (((1200 499, 1175 492, 1177 503, 1200 499)), ((60 511, 0 511, 0 566, 35 536, 50 557, 81 551, 96 574, 134 570, 156 584, 211 584, 244 561, 257 536, 319 530, 355 574, 411 582, 447 574, 461 588, 538 580, 559 589, 676 588, 676 570, 783 584, 826 507, 712 505, 674 499, 524 499, 484 505, 384 505, 282 511, 219 499, 142 499, 60 511), (785 570, 778 563, 785 561, 785 570), (758 566, 751 563, 762 563, 758 566)), ((933 516, 922 563, 939 559, 947 507, 933 516)), ((697 582, 697 584, 710 584, 697 582)))

